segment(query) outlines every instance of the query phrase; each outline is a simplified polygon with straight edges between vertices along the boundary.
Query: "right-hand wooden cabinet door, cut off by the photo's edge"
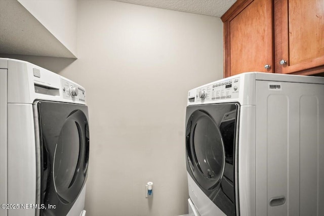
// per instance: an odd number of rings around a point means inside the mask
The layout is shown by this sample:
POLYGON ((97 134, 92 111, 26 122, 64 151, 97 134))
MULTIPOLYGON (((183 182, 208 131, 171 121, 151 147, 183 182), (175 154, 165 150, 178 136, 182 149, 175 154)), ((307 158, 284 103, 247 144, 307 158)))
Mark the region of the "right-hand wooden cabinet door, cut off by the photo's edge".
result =
POLYGON ((275 0, 274 31, 276 73, 324 71, 323 0, 275 0))

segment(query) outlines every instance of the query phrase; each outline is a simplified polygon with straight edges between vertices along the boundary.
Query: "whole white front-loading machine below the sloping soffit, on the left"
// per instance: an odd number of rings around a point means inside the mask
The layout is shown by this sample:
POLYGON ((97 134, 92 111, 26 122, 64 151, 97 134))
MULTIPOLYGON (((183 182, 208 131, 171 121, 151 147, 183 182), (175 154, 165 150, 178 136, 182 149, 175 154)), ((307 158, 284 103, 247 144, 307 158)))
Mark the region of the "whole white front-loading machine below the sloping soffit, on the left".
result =
POLYGON ((85 215, 85 89, 31 63, 0 58, 0 119, 0 215, 85 215))

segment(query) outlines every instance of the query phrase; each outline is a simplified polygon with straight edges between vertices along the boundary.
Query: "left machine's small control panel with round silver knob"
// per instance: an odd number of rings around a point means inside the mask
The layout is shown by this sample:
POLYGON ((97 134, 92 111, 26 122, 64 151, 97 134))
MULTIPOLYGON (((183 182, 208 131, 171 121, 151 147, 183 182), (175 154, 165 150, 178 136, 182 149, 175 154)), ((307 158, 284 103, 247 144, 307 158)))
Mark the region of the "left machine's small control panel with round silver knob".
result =
POLYGON ((61 89, 64 99, 86 101, 86 91, 79 85, 61 78, 61 89))

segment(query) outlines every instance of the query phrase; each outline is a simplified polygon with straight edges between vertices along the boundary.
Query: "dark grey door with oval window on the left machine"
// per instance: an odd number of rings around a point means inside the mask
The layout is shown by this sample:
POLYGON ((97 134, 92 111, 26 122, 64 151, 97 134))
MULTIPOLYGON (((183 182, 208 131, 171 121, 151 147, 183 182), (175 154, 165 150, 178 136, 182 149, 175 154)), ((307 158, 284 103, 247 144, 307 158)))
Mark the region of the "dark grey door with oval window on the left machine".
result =
POLYGON ((38 101, 41 215, 66 215, 88 173, 89 124, 85 105, 38 101), (49 205, 54 207, 49 207, 49 205))

